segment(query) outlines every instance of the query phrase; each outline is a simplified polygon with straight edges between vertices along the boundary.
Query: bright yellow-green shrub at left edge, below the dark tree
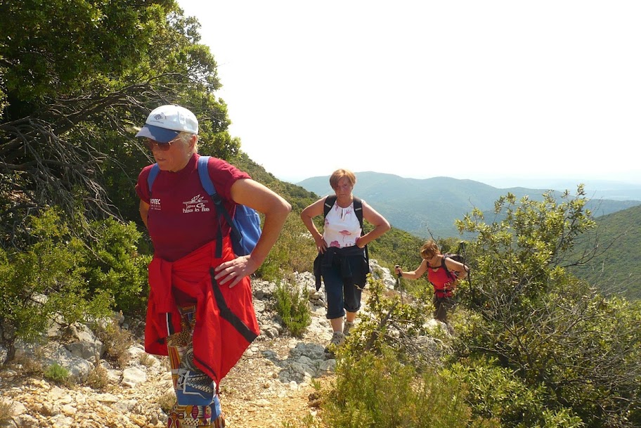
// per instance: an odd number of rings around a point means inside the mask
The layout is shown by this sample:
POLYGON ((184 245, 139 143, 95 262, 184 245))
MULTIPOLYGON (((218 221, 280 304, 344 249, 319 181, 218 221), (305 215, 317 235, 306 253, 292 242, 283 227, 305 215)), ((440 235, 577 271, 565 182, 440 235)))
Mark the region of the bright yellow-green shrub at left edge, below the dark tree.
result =
POLYGON ((15 340, 34 340, 46 331, 49 320, 60 316, 75 323, 109 313, 105 292, 89 294, 84 278, 85 247, 69 235, 66 223, 53 209, 28 219, 37 242, 24 252, 0 249, 1 344, 15 353, 15 340))

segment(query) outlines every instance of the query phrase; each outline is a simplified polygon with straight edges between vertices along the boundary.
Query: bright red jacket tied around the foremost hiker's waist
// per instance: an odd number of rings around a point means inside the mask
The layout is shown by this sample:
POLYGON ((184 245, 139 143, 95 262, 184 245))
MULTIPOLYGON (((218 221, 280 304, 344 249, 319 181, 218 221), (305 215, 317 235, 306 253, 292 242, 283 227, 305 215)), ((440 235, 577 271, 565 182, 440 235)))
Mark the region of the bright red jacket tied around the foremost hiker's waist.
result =
POLYGON ((214 280, 214 268, 235 257, 229 237, 220 259, 214 257, 215 249, 216 243, 209 242, 176 261, 151 261, 145 351, 167 356, 167 337, 181 331, 178 306, 195 303, 194 363, 219 384, 259 335, 259 327, 250 278, 233 288, 214 280))

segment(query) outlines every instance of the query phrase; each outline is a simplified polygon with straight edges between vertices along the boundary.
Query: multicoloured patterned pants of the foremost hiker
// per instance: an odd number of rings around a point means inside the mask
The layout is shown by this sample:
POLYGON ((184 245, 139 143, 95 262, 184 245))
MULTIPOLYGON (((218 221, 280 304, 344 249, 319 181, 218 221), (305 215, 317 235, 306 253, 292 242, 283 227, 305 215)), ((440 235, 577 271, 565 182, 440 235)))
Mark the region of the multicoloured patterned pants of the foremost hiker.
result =
POLYGON ((176 391, 176 405, 169 413, 168 428, 224 428, 216 382, 193 363, 193 328, 195 306, 179 308, 182 331, 167 338, 171 379, 176 391))

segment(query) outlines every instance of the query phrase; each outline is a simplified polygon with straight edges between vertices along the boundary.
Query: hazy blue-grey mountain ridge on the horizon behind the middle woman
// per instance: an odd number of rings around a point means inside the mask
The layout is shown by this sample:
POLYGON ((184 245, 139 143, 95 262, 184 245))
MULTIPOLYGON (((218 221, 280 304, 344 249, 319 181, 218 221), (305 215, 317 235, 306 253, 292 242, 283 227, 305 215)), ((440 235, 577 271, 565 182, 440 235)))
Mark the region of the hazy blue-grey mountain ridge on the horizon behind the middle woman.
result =
MULTIPOLYGON (((297 184, 319 197, 333 193, 329 176, 311 177, 297 184)), ((364 171, 356 173, 354 194, 370 203, 396 228, 422 238, 429 237, 430 232, 434 238, 446 238, 458 236, 455 219, 462 219, 474 207, 491 212, 498 197, 508 192, 517 197, 528 195, 533 200, 540 200, 547 190, 495 188, 479 181, 449 177, 405 179, 394 174, 364 171)), ((576 191, 576 185, 568 190, 576 191)), ((638 205, 641 200, 593 199, 588 207, 595 216, 602 216, 638 205)))

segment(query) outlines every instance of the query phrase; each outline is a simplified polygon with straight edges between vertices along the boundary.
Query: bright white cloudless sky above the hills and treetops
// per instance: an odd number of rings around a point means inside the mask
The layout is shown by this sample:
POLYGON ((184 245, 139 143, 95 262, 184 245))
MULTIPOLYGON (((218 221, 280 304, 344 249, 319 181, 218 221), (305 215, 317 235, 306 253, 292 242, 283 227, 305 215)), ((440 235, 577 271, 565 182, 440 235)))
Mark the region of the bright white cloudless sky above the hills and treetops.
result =
POLYGON ((278 179, 641 183, 641 1, 178 2, 278 179))

